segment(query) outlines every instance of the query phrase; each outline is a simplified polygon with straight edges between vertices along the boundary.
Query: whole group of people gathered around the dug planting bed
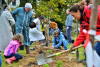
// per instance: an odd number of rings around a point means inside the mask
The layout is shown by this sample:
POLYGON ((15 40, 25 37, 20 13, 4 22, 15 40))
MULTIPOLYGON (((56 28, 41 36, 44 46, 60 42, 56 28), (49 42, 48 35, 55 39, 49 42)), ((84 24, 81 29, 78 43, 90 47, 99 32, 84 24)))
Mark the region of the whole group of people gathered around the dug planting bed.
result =
MULTIPOLYGON (((80 45, 83 41, 86 40, 85 33, 83 29, 89 30, 89 23, 91 17, 92 6, 86 6, 84 1, 75 3, 71 6, 70 9, 66 10, 67 19, 65 21, 66 25, 66 35, 61 32, 57 26, 56 22, 50 22, 49 27, 51 29, 51 33, 53 35, 53 44, 51 46, 52 49, 60 48, 60 46, 64 47, 64 50, 67 50, 67 45, 72 43, 71 39, 71 29, 73 17, 74 19, 80 20, 80 33, 76 38, 76 41, 71 46, 72 48, 80 45), (73 17, 72 17, 73 16, 73 17)), ((99 7, 98 7, 99 8, 99 7)), ((37 18, 34 18, 33 13, 31 12, 32 5, 30 3, 26 3, 25 7, 19 7, 12 11, 11 13, 8 9, 4 10, 2 15, 0 16, 0 54, 1 51, 4 51, 4 57, 6 58, 5 62, 11 64, 12 61, 22 59, 23 56, 17 53, 18 47, 22 44, 26 47, 26 54, 30 53, 30 44, 33 41, 45 39, 45 17, 40 15, 37 18), (15 25, 14 25, 15 24, 15 25), (12 34, 11 26, 15 26, 15 35, 12 34)), ((98 19, 97 19, 97 29, 96 31, 100 31, 100 10, 98 10, 98 19)), ((100 56, 100 42, 96 43, 95 49, 100 56)), ((1 56, 0 56, 0 67, 2 64, 1 56)))

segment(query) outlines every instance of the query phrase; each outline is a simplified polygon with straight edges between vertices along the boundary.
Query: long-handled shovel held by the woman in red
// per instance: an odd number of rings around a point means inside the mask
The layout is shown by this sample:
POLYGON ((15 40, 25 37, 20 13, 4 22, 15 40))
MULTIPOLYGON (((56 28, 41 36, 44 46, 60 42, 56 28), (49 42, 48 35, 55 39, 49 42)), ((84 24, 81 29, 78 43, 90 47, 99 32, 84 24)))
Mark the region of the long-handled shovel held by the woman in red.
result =
MULTIPOLYGON (((83 47, 83 45, 74 47, 72 50, 75 50, 75 49, 80 48, 80 47, 83 47)), ((58 52, 58 53, 52 54, 52 55, 49 52, 47 52, 47 54, 46 53, 45 54, 44 53, 39 54, 38 56, 36 56, 38 65, 43 65, 43 64, 46 64, 46 63, 53 62, 51 57, 61 55, 61 54, 65 53, 65 52, 69 52, 69 49, 65 50, 65 51, 62 51, 62 52, 58 52)))

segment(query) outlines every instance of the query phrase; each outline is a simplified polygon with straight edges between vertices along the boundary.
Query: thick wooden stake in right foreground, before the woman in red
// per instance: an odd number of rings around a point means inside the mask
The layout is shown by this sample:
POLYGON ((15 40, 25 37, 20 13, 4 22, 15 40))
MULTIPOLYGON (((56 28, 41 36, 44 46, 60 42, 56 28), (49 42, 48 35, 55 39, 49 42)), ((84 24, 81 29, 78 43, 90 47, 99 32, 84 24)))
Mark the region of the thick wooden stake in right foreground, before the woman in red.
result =
MULTIPOLYGON (((90 30, 96 30, 98 4, 99 4, 99 0, 92 1, 93 6, 92 6, 91 19, 90 19, 90 30)), ((89 39, 90 39, 90 42, 92 43, 92 48, 94 49, 94 35, 90 35, 89 39)))

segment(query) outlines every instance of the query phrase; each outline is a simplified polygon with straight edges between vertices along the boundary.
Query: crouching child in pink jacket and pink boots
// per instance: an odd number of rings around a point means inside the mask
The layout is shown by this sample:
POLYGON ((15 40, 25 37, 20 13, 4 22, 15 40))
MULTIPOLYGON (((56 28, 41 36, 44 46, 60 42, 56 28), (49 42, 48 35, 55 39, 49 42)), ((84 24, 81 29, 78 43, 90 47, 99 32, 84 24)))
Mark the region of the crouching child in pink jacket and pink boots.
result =
POLYGON ((4 57, 6 58, 5 62, 11 64, 12 61, 22 59, 23 56, 16 53, 19 46, 23 43, 23 36, 21 34, 16 34, 12 41, 9 43, 8 47, 5 48, 4 57))

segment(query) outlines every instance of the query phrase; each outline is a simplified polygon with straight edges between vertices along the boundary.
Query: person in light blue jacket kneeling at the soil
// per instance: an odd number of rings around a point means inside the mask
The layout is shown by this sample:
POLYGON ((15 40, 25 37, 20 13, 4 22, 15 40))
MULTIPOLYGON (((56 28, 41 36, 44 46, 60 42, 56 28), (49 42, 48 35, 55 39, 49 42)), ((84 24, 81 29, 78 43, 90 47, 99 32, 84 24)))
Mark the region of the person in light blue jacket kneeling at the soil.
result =
POLYGON ((68 40, 65 39, 64 35, 59 30, 54 30, 52 41, 53 45, 51 48, 60 48, 60 46, 64 46, 64 49, 67 50, 68 40))

